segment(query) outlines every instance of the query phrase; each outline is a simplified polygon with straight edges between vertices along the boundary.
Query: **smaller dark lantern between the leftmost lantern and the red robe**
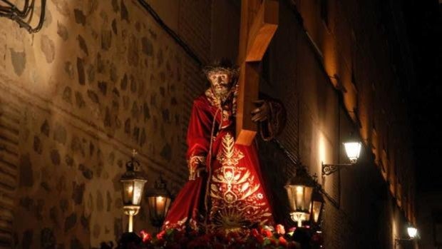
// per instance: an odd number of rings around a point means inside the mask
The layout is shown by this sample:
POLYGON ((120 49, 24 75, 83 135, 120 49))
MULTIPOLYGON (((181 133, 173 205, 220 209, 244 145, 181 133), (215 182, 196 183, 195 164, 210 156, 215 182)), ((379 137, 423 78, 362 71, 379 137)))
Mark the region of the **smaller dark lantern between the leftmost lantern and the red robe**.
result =
POLYGON ((155 187, 146 193, 146 198, 148 199, 150 222, 155 228, 160 229, 172 202, 172 195, 170 195, 161 176, 158 181, 155 181, 155 187))

